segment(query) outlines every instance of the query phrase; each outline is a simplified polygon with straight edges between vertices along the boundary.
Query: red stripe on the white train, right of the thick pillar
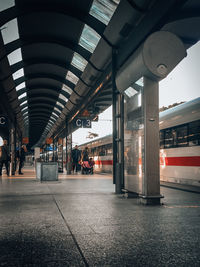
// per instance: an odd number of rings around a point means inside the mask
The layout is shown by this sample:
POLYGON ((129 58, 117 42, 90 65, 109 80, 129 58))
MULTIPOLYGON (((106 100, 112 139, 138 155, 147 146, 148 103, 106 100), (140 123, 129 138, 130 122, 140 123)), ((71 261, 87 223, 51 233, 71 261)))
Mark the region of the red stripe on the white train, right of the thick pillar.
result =
POLYGON ((166 157, 165 165, 198 167, 200 166, 200 157, 166 157))

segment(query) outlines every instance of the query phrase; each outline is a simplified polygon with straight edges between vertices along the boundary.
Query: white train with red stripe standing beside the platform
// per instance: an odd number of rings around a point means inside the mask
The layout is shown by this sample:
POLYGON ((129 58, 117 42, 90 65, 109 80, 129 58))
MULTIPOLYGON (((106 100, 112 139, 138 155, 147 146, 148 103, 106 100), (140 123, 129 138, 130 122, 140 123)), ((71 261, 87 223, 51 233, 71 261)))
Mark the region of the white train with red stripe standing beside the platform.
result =
MULTIPOLYGON (((95 172, 112 172, 112 136, 85 143, 95 172)), ((160 113, 160 179, 200 186, 200 97, 160 113)))

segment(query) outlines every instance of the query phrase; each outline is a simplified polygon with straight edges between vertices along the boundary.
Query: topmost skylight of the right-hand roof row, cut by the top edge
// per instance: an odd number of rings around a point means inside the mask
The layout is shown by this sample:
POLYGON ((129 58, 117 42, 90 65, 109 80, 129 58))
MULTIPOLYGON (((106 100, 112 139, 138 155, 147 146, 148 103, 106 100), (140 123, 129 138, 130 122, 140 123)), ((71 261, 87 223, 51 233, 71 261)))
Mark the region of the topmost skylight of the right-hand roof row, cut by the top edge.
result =
POLYGON ((90 9, 90 15, 108 25, 120 0, 94 0, 90 9))

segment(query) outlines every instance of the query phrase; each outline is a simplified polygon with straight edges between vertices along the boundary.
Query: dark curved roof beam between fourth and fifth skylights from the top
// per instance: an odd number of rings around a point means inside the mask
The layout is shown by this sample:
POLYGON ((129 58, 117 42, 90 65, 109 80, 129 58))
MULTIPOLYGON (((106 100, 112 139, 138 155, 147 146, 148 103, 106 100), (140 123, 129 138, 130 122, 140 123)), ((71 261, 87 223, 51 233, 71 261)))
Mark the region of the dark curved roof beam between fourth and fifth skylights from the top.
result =
POLYGON ((79 95, 75 90, 75 84, 70 82, 69 80, 63 79, 62 77, 55 75, 55 74, 48 74, 48 73, 34 73, 34 74, 28 74, 26 76, 22 76, 18 79, 15 80, 15 85, 18 86, 21 83, 28 81, 28 80, 34 80, 34 79, 40 79, 40 78, 44 78, 44 79, 51 79, 51 80, 55 80, 57 82, 60 82, 61 84, 65 84, 67 85, 78 97, 82 97, 81 95, 79 95))

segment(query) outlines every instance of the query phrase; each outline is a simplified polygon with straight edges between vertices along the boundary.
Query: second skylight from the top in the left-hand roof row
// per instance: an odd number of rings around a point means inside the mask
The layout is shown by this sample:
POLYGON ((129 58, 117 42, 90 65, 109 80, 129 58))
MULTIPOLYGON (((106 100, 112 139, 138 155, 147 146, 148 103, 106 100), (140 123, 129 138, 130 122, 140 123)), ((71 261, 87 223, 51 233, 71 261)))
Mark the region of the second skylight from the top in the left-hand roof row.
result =
POLYGON ((5 45, 19 39, 17 19, 10 20, 8 23, 4 24, 1 27, 1 33, 5 45))

